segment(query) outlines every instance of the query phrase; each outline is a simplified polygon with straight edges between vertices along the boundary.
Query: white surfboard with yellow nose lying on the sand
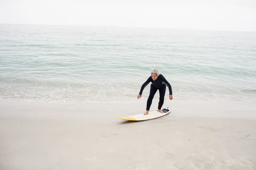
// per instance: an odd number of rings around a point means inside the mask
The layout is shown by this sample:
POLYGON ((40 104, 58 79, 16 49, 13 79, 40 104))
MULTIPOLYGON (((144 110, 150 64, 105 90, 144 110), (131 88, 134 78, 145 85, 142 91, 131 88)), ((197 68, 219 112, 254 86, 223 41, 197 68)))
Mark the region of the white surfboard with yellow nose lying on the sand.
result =
POLYGON ((165 116, 166 114, 170 113, 170 110, 162 109, 163 113, 160 113, 159 111, 149 111, 148 114, 144 115, 143 113, 135 114, 132 116, 126 116, 126 117, 118 117, 118 119, 123 120, 131 120, 131 121, 142 121, 142 120, 150 120, 150 119, 156 119, 162 116, 165 116))

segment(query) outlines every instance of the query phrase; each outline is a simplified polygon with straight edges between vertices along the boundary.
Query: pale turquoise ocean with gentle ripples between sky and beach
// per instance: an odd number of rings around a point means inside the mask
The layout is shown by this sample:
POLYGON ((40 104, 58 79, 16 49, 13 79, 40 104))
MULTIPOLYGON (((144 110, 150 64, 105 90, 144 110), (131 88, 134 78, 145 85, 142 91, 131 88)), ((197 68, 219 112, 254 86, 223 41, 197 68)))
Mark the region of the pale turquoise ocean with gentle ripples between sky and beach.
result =
POLYGON ((145 102, 152 69, 174 100, 255 102, 256 32, 0 24, 0 99, 145 102))

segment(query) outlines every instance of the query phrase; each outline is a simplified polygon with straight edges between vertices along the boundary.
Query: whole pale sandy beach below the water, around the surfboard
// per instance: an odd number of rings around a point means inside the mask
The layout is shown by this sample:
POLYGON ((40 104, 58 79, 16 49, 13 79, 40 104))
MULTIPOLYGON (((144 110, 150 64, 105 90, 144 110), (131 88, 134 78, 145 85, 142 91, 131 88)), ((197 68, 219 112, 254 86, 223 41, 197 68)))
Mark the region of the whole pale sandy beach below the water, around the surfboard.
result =
POLYGON ((0 170, 256 170, 255 102, 167 107, 129 122, 145 103, 0 100, 0 170))

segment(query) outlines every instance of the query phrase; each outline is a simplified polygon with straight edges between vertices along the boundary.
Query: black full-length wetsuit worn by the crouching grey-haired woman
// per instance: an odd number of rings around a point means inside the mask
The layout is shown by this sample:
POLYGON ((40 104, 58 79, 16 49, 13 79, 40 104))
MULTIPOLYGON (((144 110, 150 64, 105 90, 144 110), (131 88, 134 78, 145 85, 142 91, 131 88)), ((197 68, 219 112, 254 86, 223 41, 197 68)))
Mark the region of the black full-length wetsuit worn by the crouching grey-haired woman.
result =
POLYGON ((153 80, 152 77, 148 77, 147 81, 143 83, 143 85, 140 88, 140 93, 142 94, 144 88, 149 84, 152 83, 150 86, 150 93, 148 96, 148 101, 147 101, 147 108, 146 110, 149 111, 149 108, 152 104, 152 100, 154 98, 154 95, 156 94, 157 90, 159 90, 159 103, 158 103, 158 109, 161 109, 163 106, 163 101, 164 101, 164 95, 166 92, 166 85, 169 88, 169 94, 172 95, 172 86, 170 83, 163 77, 162 74, 159 74, 156 80, 153 80))

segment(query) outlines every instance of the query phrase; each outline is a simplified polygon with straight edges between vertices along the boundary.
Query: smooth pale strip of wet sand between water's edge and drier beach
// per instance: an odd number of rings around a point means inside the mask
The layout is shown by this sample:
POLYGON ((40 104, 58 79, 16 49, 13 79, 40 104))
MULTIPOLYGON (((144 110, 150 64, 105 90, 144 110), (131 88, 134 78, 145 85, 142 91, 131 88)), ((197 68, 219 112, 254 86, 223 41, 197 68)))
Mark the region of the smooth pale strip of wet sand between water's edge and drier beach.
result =
MULTIPOLYGON (((150 111, 157 109, 158 99, 153 99, 150 111)), ((209 102, 165 100, 162 108, 169 108, 167 117, 229 117, 256 119, 254 102, 209 102)), ((108 119, 144 113, 146 101, 128 103, 83 103, 83 102, 28 102, 0 100, 1 117, 55 119, 80 118, 108 119), (34 112, 34 113, 31 113, 34 112)), ((166 116, 164 116, 166 117, 166 116)), ((164 118, 163 118, 164 119, 164 118)))

